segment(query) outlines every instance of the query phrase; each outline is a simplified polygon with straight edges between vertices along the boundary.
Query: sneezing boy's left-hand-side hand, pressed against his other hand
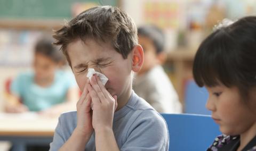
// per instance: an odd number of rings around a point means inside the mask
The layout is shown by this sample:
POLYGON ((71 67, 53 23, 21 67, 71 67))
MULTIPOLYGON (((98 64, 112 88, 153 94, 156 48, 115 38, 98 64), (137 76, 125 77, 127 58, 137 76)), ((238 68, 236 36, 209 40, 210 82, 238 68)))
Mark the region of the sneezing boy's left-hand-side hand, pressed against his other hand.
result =
POLYGON ((91 96, 88 91, 90 80, 87 79, 81 98, 76 104, 77 108, 77 126, 76 130, 86 137, 91 137, 92 128, 92 114, 91 114, 91 96))

